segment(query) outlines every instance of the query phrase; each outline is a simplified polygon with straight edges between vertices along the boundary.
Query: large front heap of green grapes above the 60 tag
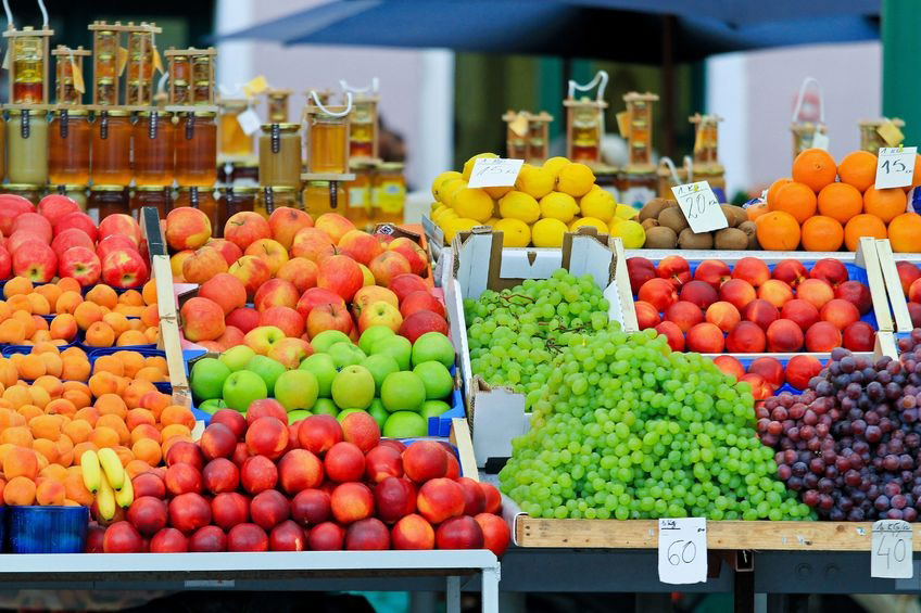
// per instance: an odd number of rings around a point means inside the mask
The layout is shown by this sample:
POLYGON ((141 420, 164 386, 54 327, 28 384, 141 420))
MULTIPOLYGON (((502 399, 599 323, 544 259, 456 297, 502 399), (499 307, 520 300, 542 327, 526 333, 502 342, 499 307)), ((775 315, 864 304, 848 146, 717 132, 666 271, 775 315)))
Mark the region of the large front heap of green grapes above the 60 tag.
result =
POLYGON ((611 322, 571 336, 513 440, 502 490, 538 518, 806 520, 753 397, 699 354, 611 322))

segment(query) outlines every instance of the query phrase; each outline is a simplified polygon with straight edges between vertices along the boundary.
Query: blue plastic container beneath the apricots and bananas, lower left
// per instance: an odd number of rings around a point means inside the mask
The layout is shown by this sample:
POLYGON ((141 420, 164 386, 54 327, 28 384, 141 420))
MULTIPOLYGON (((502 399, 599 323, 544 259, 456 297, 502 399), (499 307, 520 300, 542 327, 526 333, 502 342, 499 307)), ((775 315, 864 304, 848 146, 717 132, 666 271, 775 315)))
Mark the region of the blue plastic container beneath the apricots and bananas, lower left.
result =
POLYGON ((11 553, 83 553, 86 507, 8 507, 11 553))

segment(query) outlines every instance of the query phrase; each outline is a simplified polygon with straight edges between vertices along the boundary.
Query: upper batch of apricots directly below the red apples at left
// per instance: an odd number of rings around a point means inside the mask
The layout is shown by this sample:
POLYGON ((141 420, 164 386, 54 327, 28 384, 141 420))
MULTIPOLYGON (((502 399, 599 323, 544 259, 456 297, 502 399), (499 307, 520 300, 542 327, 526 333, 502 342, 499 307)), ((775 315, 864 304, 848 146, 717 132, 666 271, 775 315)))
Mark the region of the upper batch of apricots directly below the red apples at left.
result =
POLYGON ((80 285, 65 277, 56 283, 33 288, 25 277, 3 286, 0 301, 0 344, 35 345, 72 343, 84 331, 90 347, 124 347, 156 343, 160 315, 156 286, 149 281, 142 290, 117 294, 99 284, 80 294, 80 285), (53 316, 49 322, 42 316, 53 316))

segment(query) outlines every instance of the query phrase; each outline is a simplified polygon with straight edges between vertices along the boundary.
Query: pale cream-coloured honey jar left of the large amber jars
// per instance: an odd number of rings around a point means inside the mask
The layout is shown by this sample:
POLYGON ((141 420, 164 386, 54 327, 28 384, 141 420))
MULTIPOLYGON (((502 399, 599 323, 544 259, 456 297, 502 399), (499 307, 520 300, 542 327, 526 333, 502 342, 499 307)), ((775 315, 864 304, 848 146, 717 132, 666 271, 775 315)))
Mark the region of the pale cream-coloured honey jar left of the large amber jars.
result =
POLYGON ((11 183, 48 182, 48 119, 45 111, 10 110, 7 177, 11 183))

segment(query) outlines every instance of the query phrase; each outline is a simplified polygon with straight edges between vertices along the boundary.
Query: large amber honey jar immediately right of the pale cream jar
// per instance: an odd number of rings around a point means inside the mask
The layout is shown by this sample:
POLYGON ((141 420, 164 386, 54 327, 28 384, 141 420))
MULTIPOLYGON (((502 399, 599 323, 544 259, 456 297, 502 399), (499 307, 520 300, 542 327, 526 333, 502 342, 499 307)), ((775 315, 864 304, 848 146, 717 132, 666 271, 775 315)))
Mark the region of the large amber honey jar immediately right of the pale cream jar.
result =
POLYGON ((55 111, 48 132, 48 180, 53 186, 89 182, 89 113, 55 111))

